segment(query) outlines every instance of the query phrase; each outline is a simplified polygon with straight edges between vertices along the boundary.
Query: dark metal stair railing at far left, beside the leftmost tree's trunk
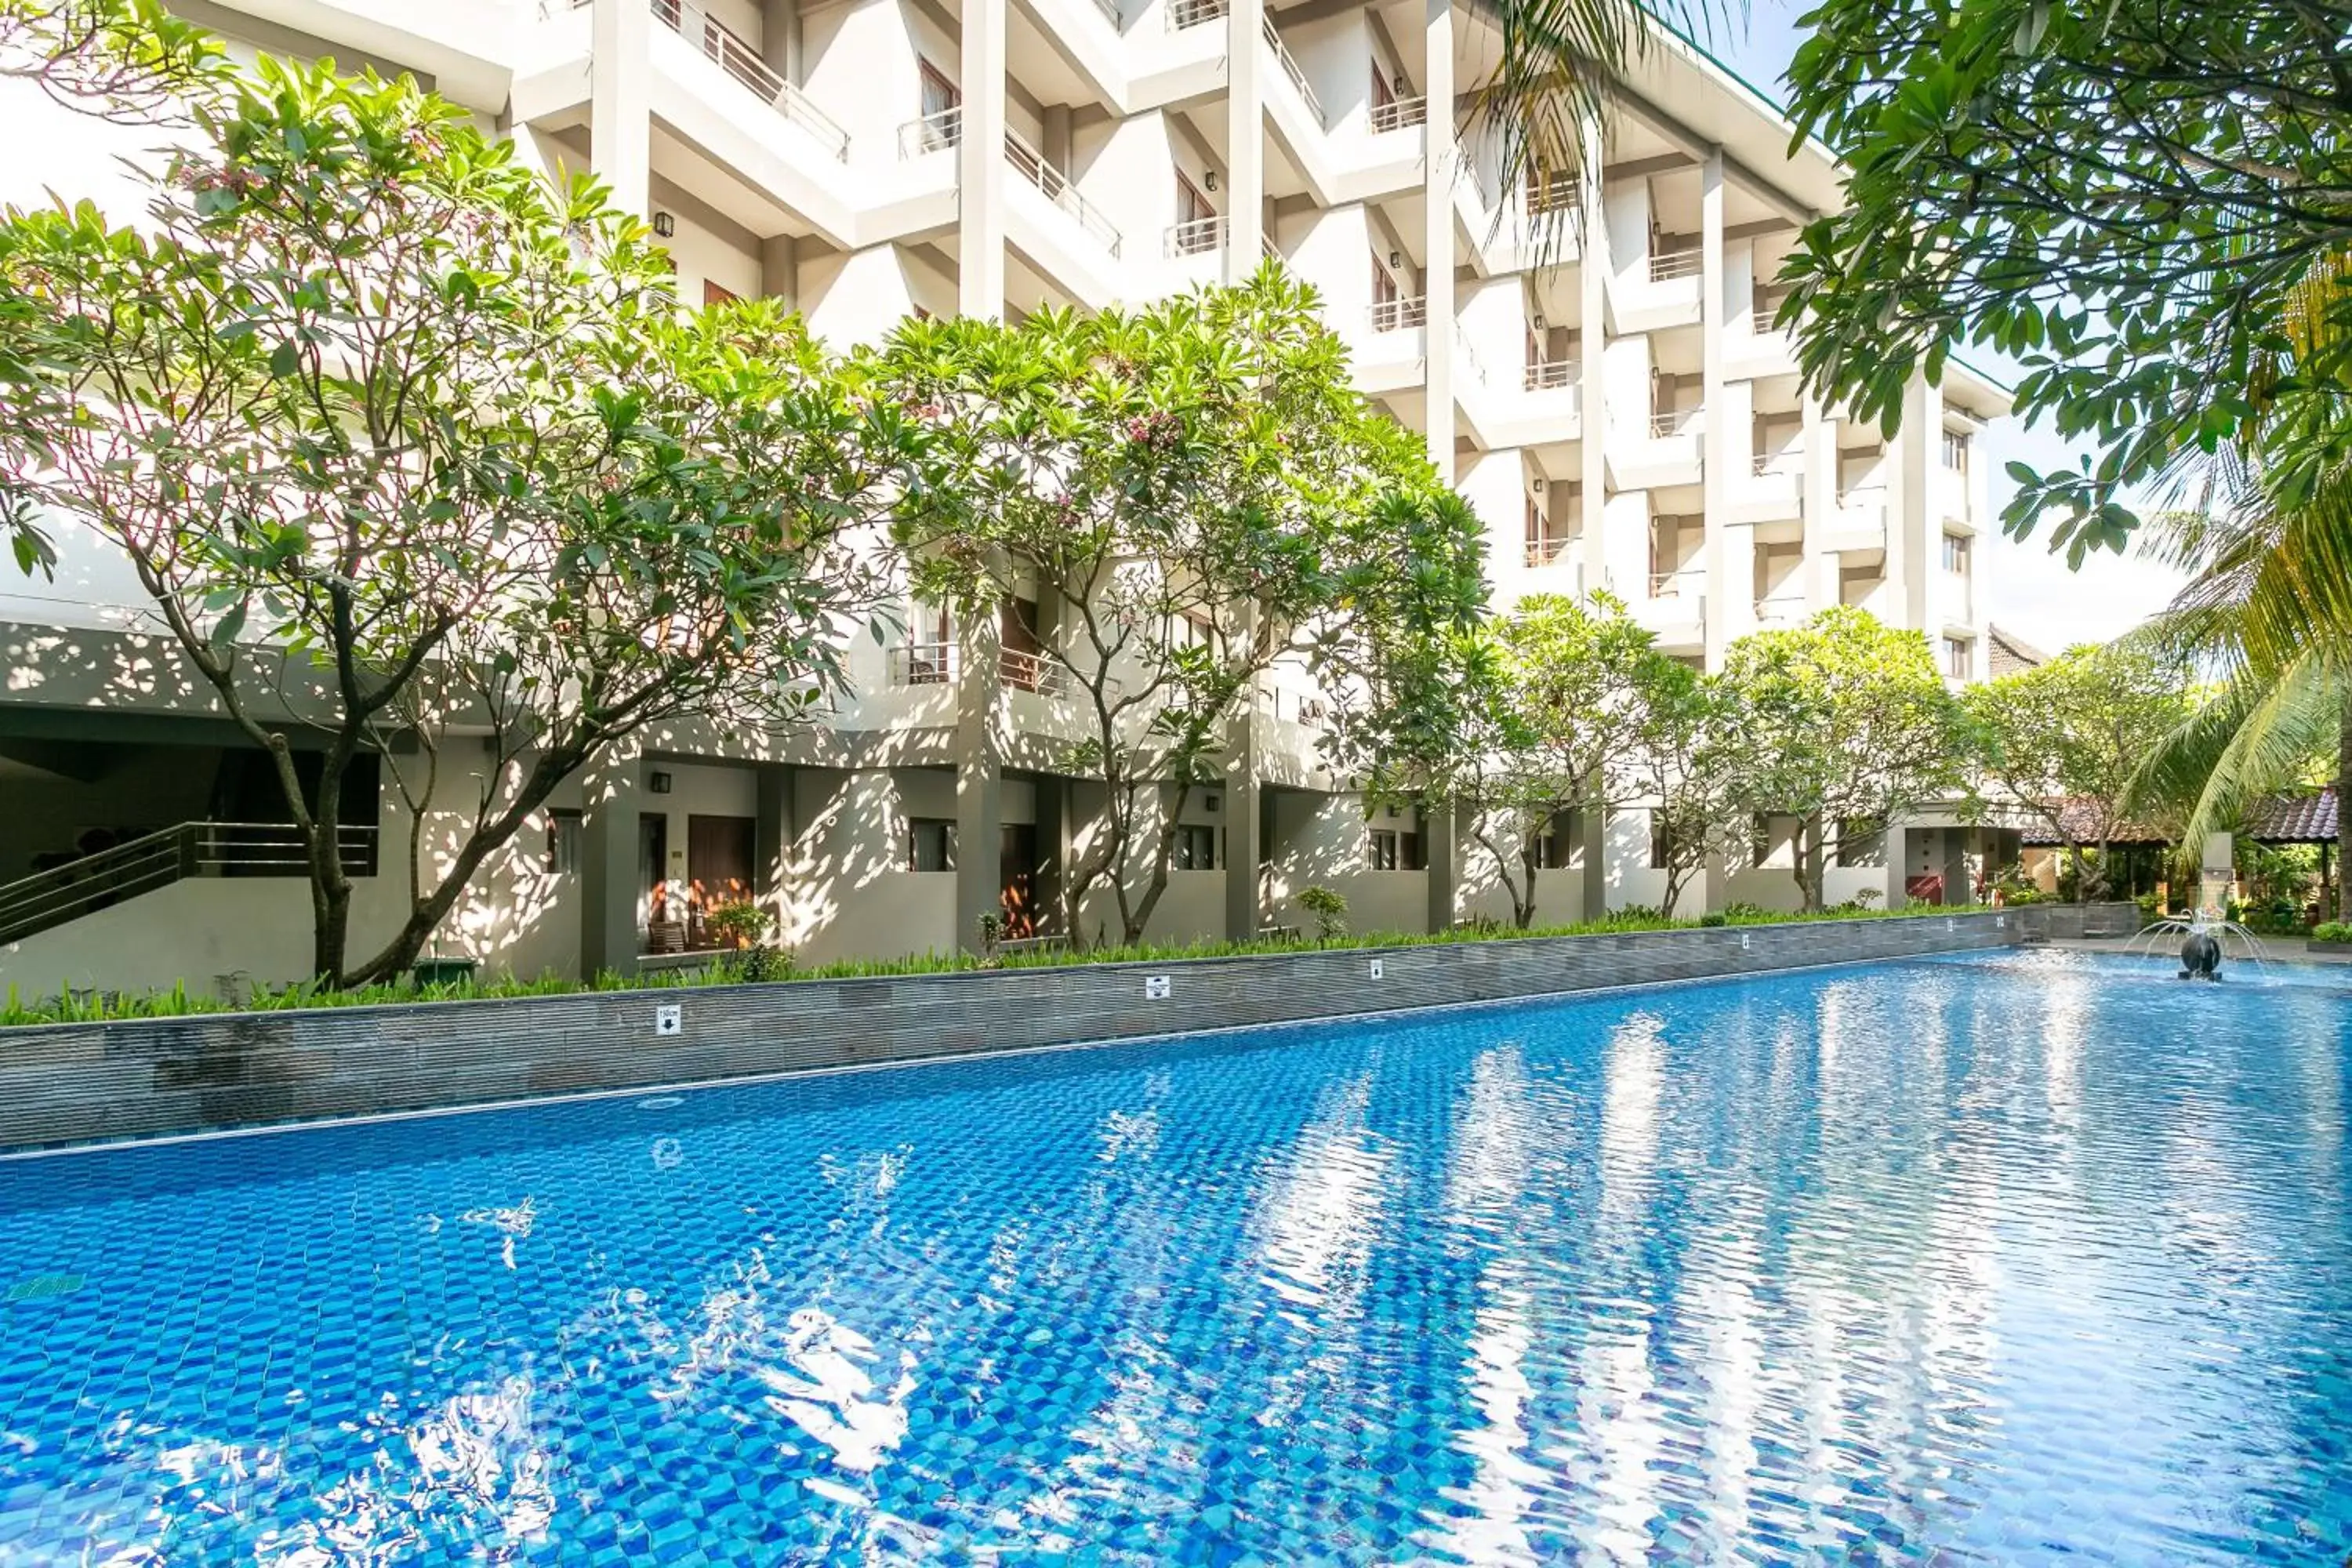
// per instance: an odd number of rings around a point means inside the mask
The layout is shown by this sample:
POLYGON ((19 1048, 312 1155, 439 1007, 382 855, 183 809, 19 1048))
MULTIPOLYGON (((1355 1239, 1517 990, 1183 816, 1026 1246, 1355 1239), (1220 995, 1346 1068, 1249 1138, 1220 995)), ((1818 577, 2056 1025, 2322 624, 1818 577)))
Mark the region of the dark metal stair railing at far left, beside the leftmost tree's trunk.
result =
MULTIPOLYGON (((376 830, 343 827, 343 872, 376 875, 376 830)), ((188 877, 308 877, 292 823, 179 823, 0 884, 0 945, 54 931, 188 877)))

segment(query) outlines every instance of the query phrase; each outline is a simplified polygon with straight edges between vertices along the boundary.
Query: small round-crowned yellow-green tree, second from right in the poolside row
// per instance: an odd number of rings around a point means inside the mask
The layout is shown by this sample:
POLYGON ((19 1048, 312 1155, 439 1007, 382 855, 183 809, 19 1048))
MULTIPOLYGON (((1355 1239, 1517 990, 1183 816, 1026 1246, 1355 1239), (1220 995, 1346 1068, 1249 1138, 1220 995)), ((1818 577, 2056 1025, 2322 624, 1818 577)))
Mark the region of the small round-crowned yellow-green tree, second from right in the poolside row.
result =
POLYGON ((1922 632, 1870 611, 1825 609, 1799 628, 1752 632, 1724 656, 1724 743, 1738 748, 1743 816, 1797 818, 1795 875, 1820 907, 1820 853, 1959 790, 1959 703, 1922 632))

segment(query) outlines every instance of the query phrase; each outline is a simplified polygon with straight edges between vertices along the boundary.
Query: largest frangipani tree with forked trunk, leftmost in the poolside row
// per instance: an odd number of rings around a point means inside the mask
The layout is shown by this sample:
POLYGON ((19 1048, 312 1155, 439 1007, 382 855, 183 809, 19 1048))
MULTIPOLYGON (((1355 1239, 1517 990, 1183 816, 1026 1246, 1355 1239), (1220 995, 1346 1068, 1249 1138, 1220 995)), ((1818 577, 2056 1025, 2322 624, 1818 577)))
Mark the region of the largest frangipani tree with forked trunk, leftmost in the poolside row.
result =
POLYGON ((129 562, 275 759, 315 973, 376 980, 607 748, 790 719, 837 682, 870 590, 844 536, 913 442, 797 322, 680 320, 637 221, 414 82, 263 59, 195 129, 143 228, 87 205, 0 223, 0 454, 19 496, 129 562), (487 762, 428 846, 452 733, 487 762), (360 752, 388 757, 416 837, 407 917, 353 957, 360 752))

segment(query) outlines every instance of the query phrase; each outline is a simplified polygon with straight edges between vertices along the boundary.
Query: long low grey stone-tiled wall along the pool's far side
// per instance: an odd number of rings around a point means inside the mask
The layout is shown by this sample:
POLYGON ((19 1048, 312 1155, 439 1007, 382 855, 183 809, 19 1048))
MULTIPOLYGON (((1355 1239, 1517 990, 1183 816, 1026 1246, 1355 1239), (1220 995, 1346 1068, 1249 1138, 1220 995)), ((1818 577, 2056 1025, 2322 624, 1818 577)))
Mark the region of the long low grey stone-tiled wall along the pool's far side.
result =
POLYGON ((2006 947, 2037 926, 1955 912, 47 1025, 0 1032, 0 1150, 1715 980, 2006 947), (663 1006, 680 1009, 668 1037, 663 1006))

